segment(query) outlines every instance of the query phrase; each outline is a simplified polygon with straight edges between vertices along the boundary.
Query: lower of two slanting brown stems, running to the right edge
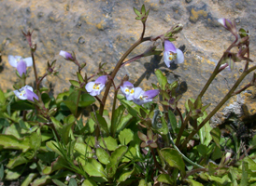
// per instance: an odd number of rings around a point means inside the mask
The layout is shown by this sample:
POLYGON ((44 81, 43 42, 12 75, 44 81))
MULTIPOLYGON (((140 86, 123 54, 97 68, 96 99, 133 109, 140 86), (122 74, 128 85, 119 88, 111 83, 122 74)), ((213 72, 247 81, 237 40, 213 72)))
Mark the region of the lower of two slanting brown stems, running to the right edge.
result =
POLYGON ((206 119, 197 127, 196 130, 192 130, 192 133, 189 135, 189 137, 187 137, 182 145, 181 145, 181 149, 182 150, 186 144, 192 140, 192 137, 203 127, 206 125, 206 123, 208 122, 208 120, 215 114, 219 111, 219 109, 223 106, 223 104, 229 100, 232 96, 233 96, 233 93, 235 92, 235 89, 237 88, 237 86, 240 85, 240 83, 243 81, 243 79, 249 74, 251 73, 252 71, 256 70, 256 66, 253 66, 251 68, 249 68, 248 71, 245 71, 241 74, 241 76, 237 79, 237 81, 235 82, 235 85, 230 89, 230 91, 227 93, 227 95, 222 99, 220 100, 220 103, 214 108, 214 110, 209 113, 207 116, 206 116, 206 119))

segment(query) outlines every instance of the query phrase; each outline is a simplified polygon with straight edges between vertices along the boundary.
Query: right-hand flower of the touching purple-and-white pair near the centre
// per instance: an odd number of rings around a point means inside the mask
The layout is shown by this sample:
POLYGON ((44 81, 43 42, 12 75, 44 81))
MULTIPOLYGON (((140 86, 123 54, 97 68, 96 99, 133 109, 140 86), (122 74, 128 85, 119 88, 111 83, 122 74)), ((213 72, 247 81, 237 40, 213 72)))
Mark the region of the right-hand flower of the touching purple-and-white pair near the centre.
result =
POLYGON ((134 102, 138 105, 150 102, 159 94, 158 89, 143 91, 141 87, 135 88, 135 99, 134 102))

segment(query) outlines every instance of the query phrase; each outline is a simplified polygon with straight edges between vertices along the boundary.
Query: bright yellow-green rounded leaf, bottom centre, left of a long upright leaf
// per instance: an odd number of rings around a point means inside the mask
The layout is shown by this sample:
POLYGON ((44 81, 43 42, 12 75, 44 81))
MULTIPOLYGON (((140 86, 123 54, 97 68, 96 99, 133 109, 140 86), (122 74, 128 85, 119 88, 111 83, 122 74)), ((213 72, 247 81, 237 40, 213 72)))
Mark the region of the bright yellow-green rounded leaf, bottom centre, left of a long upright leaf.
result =
POLYGON ((88 158, 88 162, 83 168, 91 177, 102 177, 106 179, 104 167, 94 158, 88 158))

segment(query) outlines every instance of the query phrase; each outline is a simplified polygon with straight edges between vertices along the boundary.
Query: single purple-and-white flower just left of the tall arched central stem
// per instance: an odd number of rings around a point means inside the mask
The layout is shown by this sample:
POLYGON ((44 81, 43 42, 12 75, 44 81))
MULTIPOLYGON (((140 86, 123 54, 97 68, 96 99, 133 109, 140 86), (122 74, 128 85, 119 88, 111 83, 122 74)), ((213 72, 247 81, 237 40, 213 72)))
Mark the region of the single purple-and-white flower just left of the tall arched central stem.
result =
POLYGON ((101 91, 105 87, 107 82, 107 75, 102 75, 98 77, 94 82, 89 82, 86 84, 85 89, 91 96, 100 95, 101 91))

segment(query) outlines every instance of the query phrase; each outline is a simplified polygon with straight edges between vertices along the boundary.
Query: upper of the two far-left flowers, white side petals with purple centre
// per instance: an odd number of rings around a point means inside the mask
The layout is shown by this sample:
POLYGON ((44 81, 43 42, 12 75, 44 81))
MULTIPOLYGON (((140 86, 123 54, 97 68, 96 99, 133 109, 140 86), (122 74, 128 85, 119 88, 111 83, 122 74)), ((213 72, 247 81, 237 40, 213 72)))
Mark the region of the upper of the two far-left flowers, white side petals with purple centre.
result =
POLYGON ((26 74, 27 67, 33 65, 33 60, 31 57, 22 59, 21 56, 9 55, 8 61, 11 66, 13 66, 17 69, 20 76, 22 76, 23 73, 26 74))

